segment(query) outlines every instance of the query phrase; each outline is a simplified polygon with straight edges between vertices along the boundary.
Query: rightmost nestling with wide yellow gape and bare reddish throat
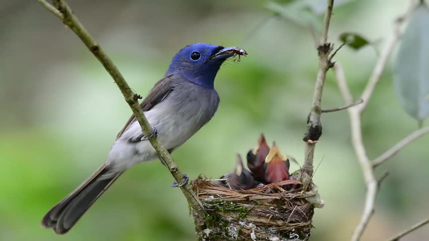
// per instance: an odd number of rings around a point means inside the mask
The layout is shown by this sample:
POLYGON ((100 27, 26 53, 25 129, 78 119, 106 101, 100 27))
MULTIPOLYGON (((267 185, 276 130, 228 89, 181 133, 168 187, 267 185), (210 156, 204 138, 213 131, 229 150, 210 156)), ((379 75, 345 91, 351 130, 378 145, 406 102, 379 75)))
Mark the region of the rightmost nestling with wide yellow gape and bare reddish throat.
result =
POLYGON ((275 142, 272 143, 272 148, 265 158, 265 163, 267 164, 265 180, 268 183, 289 180, 290 161, 278 150, 275 142))

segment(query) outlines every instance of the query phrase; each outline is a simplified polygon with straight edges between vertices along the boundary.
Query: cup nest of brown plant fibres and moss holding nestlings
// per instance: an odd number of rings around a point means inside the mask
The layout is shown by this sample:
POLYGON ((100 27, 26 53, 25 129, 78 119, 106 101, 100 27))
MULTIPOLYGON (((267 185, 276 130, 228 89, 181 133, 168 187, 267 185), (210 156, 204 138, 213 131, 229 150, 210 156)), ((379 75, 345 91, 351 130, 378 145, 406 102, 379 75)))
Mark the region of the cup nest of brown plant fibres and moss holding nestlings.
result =
POLYGON ((317 194, 313 185, 285 180, 236 190, 199 177, 192 188, 208 216, 203 220, 193 212, 198 240, 308 240, 315 207, 311 199, 317 194))

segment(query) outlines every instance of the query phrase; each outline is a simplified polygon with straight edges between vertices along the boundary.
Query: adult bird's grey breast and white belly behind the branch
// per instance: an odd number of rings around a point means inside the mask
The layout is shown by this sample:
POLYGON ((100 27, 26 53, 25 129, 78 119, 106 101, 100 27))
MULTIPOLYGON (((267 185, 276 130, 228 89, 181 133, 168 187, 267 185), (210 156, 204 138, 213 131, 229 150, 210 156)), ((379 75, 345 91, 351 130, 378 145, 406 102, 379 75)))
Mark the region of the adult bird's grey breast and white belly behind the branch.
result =
MULTIPOLYGON (((172 91, 151 109, 145 111, 152 128, 167 150, 174 150, 191 138, 215 114, 219 95, 215 89, 204 88, 174 76, 172 91)), ((141 135, 138 122, 132 122, 115 141, 106 164, 112 172, 128 169, 136 163, 157 158, 149 141, 130 142, 141 135)))

